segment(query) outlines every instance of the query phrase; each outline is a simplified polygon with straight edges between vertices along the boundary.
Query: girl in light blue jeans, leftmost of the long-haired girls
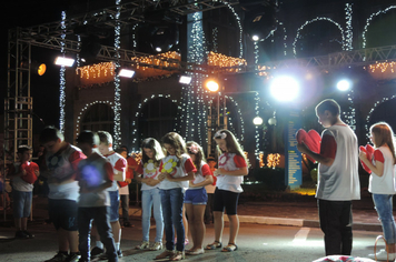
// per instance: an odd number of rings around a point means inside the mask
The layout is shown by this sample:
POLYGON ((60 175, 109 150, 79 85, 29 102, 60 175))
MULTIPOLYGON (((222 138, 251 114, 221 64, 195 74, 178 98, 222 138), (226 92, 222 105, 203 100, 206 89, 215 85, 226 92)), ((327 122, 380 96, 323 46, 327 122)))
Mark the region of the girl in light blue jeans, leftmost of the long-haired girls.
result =
POLYGON ((141 162, 138 165, 137 173, 139 177, 137 180, 141 182, 141 225, 142 225, 142 241, 136 246, 138 250, 162 249, 164 236, 164 218, 162 218, 162 204, 161 195, 159 193, 159 163, 164 158, 164 151, 159 142, 155 139, 145 139, 141 144, 141 162), (151 208, 154 209, 154 218, 156 220, 156 239, 155 243, 149 246, 149 233, 150 233, 150 218, 151 208))

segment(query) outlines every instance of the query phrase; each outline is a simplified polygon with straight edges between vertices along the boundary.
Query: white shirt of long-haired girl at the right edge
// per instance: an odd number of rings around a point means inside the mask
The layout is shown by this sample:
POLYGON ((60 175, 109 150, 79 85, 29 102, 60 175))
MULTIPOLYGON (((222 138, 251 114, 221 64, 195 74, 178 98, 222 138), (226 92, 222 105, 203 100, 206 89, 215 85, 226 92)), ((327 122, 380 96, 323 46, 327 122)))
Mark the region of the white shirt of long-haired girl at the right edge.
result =
MULTIPOLYGON (((379 150, 384 157, 384 173, 378 177, 372 172, 368 183, 368 192, 375 194, 395 194, 395 164, 394 158, 388 147, 379 147, 379 150)), ((373 163, 375 163, 373 158, 373 163)))

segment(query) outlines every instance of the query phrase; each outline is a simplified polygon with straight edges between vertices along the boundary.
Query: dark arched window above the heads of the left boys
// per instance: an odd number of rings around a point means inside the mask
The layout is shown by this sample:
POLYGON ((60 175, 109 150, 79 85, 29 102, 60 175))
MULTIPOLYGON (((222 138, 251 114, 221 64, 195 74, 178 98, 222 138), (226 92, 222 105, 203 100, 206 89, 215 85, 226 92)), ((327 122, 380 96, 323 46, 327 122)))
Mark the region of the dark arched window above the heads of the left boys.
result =
POLYGON ((96 103, 86 110, 81 121, 81 131, 108 131, 113 133, 115 129, 115 112, 110 105, 106 103, 96 103))

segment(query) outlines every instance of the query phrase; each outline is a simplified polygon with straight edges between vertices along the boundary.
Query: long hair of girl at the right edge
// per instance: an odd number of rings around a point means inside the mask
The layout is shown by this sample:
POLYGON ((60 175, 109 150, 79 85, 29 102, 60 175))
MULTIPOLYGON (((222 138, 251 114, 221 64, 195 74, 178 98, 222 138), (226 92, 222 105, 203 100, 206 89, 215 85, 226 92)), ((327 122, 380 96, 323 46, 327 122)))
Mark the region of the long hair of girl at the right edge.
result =
POLYGON ((394 131, 392 130, 390 125, 387 124, 386 122, 378 122, 372 125, 370 132, 375 134, 373 142, 376 148, 379 148, 384 144, 387 144, 389 147, 395 163, 396 153, 395 153, 394 131))

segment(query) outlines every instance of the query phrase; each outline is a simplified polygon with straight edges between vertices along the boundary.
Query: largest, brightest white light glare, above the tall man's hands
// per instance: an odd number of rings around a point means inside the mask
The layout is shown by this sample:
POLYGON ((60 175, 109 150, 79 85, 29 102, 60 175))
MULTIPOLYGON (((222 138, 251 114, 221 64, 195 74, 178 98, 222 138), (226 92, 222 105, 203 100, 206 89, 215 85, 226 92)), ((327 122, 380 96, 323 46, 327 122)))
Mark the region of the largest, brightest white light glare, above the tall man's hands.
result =
POLYGON ((278 77, 271 82, 270 91, 279 101, 291 101, 298 95, 299 84, 290 77, 278 77))

